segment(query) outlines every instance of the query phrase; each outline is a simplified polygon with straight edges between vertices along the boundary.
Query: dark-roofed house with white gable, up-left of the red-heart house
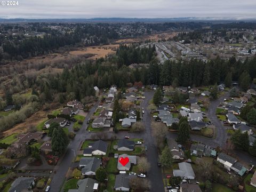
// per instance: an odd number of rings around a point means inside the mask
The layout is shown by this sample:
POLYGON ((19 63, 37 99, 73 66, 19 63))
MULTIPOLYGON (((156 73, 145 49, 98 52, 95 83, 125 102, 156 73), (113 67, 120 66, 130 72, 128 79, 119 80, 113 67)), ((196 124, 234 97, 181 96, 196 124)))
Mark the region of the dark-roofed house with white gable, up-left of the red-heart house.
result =
POLYGON ((89 143, 88 147, 84 149, 84 156, 92 155, 106 155, 108 149, 108 143, 102 140, 89 143))

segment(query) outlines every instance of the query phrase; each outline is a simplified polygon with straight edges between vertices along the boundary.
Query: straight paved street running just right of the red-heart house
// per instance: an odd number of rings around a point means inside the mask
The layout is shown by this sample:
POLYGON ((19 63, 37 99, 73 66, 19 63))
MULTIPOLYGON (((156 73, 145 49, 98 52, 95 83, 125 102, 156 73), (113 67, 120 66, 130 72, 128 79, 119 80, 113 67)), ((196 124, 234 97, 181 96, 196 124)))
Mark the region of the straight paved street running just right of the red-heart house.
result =
POLYGON ((151 182, 150 191, 161 192, 161 191, 164 191, 162 170, 157 166, 158 151, 155 145, 155 140, 151 134, 151 116, 150 116, 150 111, 148 111, 147 109, 149 101, 153 97, 153 95, 154 95, 153 91, 145 92, 145 100, 142 102, 142 107, 145 110, 145 114, 143 114, 143 122, 146 128, 146 131, 143 132, 142 138, 145 141, 145 145, 147 145, 148 151, 146 151, 146 156, 148 157, 148 161, 151 165, 151 169, 147 173, 148 179, 151 182))

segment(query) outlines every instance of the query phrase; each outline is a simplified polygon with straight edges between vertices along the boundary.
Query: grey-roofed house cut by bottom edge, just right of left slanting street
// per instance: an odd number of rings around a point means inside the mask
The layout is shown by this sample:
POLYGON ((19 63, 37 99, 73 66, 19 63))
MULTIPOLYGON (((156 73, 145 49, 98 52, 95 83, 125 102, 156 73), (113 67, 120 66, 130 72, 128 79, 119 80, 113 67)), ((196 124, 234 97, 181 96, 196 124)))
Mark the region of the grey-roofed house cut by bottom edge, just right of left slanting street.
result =
POLYGON ((80 179, 77 181, 77 187, 78 189, 69 189, 68 192, 93 192, 97 191, 99 186, 98 181, 86 178, 86 179, 80 179))

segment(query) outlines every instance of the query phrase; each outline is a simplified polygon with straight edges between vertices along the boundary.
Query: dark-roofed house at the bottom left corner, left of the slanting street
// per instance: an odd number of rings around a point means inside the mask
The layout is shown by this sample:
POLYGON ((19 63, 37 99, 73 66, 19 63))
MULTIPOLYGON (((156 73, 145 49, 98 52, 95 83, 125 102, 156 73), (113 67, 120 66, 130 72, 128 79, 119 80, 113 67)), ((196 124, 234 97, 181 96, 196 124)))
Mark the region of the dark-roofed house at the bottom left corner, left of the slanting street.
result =
POLYGON ((34 177, 19 177, 12 182, 9 192, 28 192, 33 191, 35 186, 34 177))

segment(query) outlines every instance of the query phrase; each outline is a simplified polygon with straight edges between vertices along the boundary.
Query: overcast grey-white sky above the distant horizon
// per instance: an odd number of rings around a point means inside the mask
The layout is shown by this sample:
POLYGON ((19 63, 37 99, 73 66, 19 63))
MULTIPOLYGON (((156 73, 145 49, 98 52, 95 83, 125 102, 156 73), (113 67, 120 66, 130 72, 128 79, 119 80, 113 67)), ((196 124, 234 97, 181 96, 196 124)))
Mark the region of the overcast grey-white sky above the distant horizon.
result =
MULTIPOLYGON (((0 0, 7 1, 7 0, 0 0)), ((0 18, 232 18, 256 19, 256 0, 15 0, 0 18)))

